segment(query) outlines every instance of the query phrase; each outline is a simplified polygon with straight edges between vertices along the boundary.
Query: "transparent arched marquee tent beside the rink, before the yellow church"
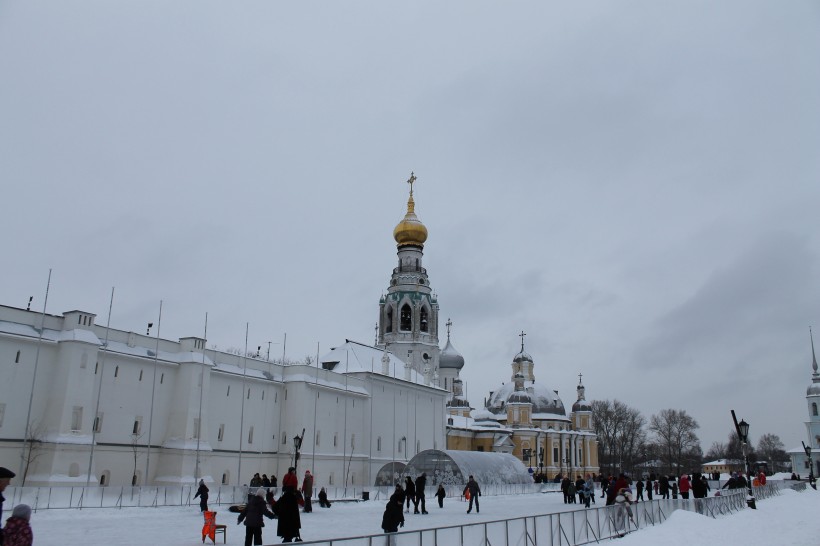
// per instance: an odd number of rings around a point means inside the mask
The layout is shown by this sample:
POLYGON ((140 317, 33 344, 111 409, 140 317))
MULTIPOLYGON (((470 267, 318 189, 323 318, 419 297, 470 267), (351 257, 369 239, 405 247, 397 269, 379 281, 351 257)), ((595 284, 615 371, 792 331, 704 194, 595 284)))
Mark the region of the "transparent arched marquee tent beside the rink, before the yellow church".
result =
POLYGON ((533 482, 524 463, 507 453, 428 449, 410 459, 404 470, 411 477, 425 472, 432 485, 463 485, 471 475, 479 485, 533 482))

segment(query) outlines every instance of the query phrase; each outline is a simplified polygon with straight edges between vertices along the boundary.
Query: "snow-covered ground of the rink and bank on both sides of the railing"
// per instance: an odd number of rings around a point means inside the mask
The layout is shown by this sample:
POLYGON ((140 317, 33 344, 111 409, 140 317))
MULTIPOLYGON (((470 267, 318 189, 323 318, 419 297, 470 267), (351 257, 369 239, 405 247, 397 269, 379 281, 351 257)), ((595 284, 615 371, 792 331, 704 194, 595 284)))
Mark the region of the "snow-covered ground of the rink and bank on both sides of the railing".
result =
MULTIPOLYGON (((601 502, 601 499, 596 499, 601 502)), ((302 537, 320 540, 379 533, 383 501, 337 502, 329 509, 314 505, 311 514, 302 514, 302 537)), ((600 506, 600 504, 598 504, 600 506)), ((524 515, 544 514, 567 509, 560 494, 481 497, 481 513, 466 514, 459 499, 445 499, 440 509, 435 501, 427 503, 429 515, 406 514, 403 530, 425 529, 476 523, 524 515)), ((5 515, 11 513, 6 504, 5 515)), ((244 526, 227 507, 216 509, 217 523, 228 525, 227 543, 244 543, 244 526)), ((578 505, 569 505, 577 509, 578 505)), ((712 519, 678 510, 662 525, 631 533, 620 539, 620 546, 683 546, 698 544, 743 546, 820 544, 820 493, 785 489, 780 496, 758 502, 757 510, 744 509, 729 516, 712 519)), ((265 544, 281 542, 276 536, 276 521, 267 521, 265 544)), ((202 516, 198 507, 98 508, 41 510, 32 515, 34 543, 145 546, 201 545, 202 516)), ((209 541, 210 543, 210 541, 209 541)), ((220 541, 221 543, 221 541, 220 541)))

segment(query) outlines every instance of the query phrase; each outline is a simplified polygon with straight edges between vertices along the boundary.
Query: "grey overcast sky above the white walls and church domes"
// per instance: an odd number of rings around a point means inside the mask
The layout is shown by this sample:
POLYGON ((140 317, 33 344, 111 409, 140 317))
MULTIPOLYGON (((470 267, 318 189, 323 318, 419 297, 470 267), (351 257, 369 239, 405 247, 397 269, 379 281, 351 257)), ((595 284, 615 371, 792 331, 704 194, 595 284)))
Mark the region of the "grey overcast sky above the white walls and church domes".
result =
MULTIPOLYGON (((372 343, 415 171, 474 407, 805 439, 820 4, 0 3, 0 304, 301 359, 372 343)), ((446 339, 444 328, 440 336, 446 339)))

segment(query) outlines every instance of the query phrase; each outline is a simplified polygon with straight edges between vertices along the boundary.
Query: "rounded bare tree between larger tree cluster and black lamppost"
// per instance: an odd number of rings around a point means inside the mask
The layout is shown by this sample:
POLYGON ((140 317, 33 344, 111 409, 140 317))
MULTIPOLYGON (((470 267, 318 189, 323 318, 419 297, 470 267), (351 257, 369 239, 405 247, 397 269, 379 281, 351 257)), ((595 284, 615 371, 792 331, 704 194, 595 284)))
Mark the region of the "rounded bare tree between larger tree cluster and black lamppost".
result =
POLYGON ((661 460, 669 470, 674 466, 678 475, 681 473, 681 466, 691 465, 692 459, 702 454, 700 440, 695 434, 698 428, 700 426, 697 421, 685 410, 661 410, 649 420, 649 430, 655 435, 655 441, 660 447, 661 460))

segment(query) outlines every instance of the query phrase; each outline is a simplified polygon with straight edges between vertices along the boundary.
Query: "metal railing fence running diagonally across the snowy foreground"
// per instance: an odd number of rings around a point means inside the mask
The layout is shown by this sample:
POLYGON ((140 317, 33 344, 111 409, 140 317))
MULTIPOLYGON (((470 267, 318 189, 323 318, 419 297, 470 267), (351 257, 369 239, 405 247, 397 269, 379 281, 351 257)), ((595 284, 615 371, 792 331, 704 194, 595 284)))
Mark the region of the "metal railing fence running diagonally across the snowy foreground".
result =
MULTIPOLYGON (((779 494, 782 484, 755 488, 755 495, 779 494)), ((581 546, 659 525, 675 510, 713 518, 746 507, 746 490, 734 489, 704 499, 656 499, 631 507, 602 506, 508 520, 454 525, 436 529, 304 542, 321 546, 581 546)))

